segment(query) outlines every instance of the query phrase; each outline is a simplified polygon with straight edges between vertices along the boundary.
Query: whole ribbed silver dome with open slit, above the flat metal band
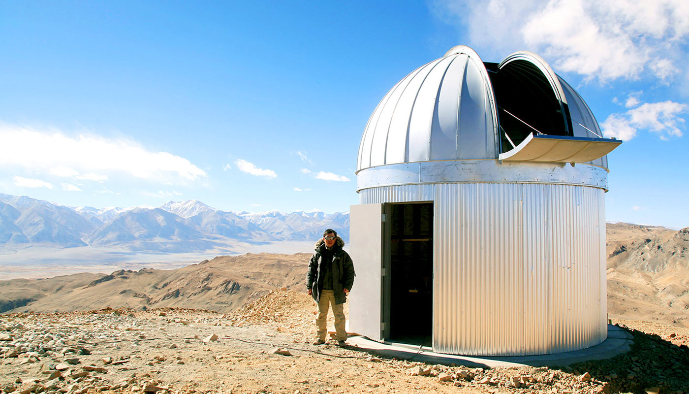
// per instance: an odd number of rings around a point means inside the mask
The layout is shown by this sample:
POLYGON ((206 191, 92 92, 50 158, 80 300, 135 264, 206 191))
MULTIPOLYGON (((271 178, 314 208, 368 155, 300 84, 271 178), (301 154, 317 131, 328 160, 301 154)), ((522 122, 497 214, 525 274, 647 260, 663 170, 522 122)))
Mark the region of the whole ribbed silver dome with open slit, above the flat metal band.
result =
POLYGON ((582 148, 600 141, 611 140, 601 138, 582 97, 538 55, 515 52, 502 63, 484 63, 471 48, 455 46, 383 97, 364 129, 357 172, 466 159, 585 162, 607 168, 605 155, 619 143, 582 148), (516 155, 534 137, 541 137, 541 148, 516 155))

